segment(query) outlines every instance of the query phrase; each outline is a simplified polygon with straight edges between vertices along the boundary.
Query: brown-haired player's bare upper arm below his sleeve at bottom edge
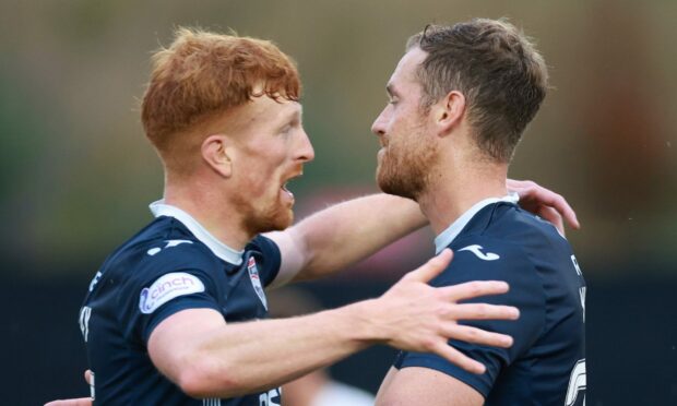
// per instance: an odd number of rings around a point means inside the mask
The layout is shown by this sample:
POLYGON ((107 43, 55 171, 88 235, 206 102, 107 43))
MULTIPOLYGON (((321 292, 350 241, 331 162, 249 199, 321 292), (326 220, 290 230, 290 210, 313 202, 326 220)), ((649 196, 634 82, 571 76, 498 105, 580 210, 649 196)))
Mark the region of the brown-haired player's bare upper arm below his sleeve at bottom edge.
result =
POLYGON ((379 406, 478 406, 484 396, 466 383, 428 368, 391 370, 377 397, 379 406))

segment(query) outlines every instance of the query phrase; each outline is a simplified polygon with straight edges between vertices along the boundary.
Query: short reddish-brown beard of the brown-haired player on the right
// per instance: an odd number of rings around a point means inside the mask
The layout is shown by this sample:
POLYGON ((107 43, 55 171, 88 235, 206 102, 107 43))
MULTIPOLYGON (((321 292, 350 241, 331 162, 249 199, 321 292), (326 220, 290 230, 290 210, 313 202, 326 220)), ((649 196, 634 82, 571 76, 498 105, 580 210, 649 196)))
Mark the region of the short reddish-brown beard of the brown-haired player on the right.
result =
POLYGON ((419 123, 408 133, 384 136, 376 174, 384 193, 417 201, 427 190, 439 154, 436 143, 426 142, 424 127, 419 123))

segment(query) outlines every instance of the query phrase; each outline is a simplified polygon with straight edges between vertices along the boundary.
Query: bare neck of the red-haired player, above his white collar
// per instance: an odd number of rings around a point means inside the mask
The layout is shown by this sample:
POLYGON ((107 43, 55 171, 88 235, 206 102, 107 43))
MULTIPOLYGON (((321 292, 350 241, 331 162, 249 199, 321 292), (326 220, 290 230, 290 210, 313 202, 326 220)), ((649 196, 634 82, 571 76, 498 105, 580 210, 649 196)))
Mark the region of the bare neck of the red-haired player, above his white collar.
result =
POLYGON ((236 251, 244 250, 254 236, 247 232, 241 216, 214 189, 199 179, 180 182, 165 179, 164 199, 166 204, 190 214, 221 242, 236 251))

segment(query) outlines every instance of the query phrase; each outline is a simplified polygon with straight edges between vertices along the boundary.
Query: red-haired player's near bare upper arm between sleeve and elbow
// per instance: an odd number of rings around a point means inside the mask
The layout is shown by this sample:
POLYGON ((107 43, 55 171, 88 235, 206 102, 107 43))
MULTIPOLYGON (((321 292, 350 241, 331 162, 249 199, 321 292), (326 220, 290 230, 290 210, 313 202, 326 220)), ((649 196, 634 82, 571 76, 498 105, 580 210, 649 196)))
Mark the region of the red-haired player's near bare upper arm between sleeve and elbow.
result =
POLYGON ((149 337, 149 355, 155 367, 171 381, 194 359, 193 349, 201 338, 226 325, 214 309, 186 309, 163 320, 149 337))

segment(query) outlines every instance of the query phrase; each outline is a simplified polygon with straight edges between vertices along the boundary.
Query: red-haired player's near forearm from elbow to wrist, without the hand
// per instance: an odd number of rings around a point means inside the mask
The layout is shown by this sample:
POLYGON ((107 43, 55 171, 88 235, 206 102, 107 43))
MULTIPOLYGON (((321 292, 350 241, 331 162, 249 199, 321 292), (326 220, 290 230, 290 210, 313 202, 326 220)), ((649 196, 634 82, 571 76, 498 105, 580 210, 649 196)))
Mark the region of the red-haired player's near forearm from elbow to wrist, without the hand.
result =
MULTIPOLYGON (((195 397, 278 386, 379 341, 371 301, 311 315, 224 325, 186 351, 175 381, 195 397)), ((170 372, 171 373, 171 372, 170 372)))

